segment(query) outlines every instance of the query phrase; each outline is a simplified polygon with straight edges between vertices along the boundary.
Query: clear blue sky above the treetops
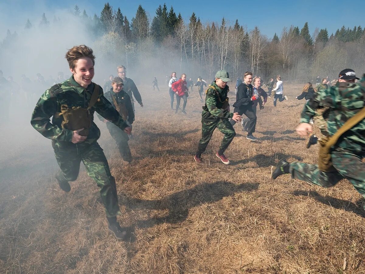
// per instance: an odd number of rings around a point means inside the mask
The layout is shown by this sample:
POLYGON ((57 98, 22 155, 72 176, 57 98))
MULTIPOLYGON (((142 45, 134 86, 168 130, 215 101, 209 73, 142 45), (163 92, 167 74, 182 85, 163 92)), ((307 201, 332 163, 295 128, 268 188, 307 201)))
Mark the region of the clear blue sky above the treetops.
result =
MULTIPOLYGON (((16 30, 17 27, 24 26, 26 19, 36 16, 34 20, 40 20, 43 12, 46 12, 49 19, 53 18, 53 13, 60 10, 67 11, 77 4, 81 11, 85 9, 89 15, 100 11, 104 6, 104 1, 95 0, 11 0, 0 1, 0 28, 10 28, 16 30), (39 19, 38 19, 39 18, 39 19)), ((274 33, 280 35, 284 26, 291 25, 303 27, 308 22, 310 33, 312 34, 316 27, 327 27, 328 33, 335 32, 342 25, 353 28, 361 25, 365 27, 364 0, 338 1, 338 0, 299 0, 299 1, 252 1, 252 5, 247 5, 246 1, 231 0, 186 0, 186 1, 125 1, 110 0, 109 3, 114 9, 120 7, 123 15, 129 20, 135 15, 138 5, 141 4, 151 18, 155 15, 155 9, 158 5, 166 3, 168 9, 173 5, 174 11, 181 13, 184 19, 188 19, 192 12, 200 17, 202 22, 214 21, 220 22, 224 16, 232 24, 236 19, 249 30, 258 26, 261 32, 272 38, 274 33), (222 4, 226 7, 222 7, 222 4), (344 6, 344 3, 346 6, 344 6)), ((38 24, 36 21, 35 23, 38 24)), ((0 33, 0 38, 4 37, 0 33)))

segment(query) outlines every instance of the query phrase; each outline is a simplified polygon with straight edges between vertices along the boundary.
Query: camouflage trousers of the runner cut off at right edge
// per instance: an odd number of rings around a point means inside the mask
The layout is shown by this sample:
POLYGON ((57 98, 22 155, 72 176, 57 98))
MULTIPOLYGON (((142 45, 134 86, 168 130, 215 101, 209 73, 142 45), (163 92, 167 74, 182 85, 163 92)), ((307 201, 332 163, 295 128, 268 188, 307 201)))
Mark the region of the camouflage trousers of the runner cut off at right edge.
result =
POLYGON ((365 198, 365 163, 361 156, 342 148, 331 153, 333 172, 323 172, 318 165, 294 162, 290 164, 289 173, 293 178, 314 183, 322 187, 331 187, 345 178, 353 184, 355 189, 365 198))

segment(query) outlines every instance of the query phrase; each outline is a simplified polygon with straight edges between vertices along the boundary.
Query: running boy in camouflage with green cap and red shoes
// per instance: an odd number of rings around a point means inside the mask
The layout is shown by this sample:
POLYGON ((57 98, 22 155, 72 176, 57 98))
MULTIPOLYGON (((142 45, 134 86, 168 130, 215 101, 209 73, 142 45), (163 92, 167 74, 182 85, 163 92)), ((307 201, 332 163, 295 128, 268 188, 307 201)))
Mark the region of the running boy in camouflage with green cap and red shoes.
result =
POLYGON ((232 142, 236 133, 233 126, 228 121, 228 118, 238 122, 241 120, 241 116, 238 113, 231 113, 229 111, 227 97, 229 91, 229 87, 227 85, 228 81, 231 81, 229 79, 228 72, 220 70, 215 74, 215 81, 212 82, 207 90, 205 105, 203 106, 203 111, 201 113, 201 139, 198 144, 196 155, 194 156, 194 160, 197 163, 201 163, 201 154, 207 148, 216 128, 224 134, 216 156, 222 161, 222 163, 230 163, 223 153, 232 142))

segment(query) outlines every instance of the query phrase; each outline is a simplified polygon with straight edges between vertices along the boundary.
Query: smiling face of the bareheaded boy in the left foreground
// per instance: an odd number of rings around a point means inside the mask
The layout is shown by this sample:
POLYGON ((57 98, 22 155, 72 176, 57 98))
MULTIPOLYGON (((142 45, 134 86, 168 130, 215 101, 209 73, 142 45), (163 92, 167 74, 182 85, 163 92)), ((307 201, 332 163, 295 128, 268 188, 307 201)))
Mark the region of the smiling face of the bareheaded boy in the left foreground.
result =
POLYGON ((70 68, 75 81, 83 88, 91 84, 94 77, 94 64, 89 57, 82 57, 75 62, 75 67, 70 68))

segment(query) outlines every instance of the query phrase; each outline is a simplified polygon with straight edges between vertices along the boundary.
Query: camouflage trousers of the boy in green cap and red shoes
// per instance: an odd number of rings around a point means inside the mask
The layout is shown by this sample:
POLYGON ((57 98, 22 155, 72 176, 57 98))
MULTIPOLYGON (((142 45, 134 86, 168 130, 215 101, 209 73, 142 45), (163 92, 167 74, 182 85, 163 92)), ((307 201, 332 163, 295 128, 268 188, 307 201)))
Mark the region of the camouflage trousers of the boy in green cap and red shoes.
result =
POLYGON ((219 152, 222 154, 232 142, 236 132, 227 118, 217 119, 201 119, 201 139, 198 144, 197 155, 201 155, 207 148, 207 145, 212 138, 214 130, 218 128, 224 134, 223 140, 219 146, 219 152))

